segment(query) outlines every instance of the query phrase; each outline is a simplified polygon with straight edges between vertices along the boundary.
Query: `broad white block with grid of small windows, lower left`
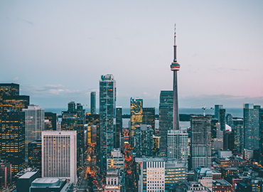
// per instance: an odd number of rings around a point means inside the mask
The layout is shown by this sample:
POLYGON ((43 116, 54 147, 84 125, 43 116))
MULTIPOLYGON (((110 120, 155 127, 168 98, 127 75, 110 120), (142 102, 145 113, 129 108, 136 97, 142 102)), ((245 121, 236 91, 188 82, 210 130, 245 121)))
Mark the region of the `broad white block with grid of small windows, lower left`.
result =
POLYGON ((77 182, 77 132, 42 132, 42 177, 77 182))

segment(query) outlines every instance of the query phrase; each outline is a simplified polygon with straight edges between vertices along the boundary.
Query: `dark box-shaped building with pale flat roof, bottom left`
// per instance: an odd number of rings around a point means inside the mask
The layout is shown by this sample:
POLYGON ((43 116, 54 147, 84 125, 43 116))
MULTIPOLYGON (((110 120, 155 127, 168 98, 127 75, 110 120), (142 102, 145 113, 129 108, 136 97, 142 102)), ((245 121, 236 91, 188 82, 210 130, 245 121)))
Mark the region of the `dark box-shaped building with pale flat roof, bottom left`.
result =
POLYGON ((24 171, 16 180, 17 192, 29 192, 32 181, 39 177, 39 169, 24 171))

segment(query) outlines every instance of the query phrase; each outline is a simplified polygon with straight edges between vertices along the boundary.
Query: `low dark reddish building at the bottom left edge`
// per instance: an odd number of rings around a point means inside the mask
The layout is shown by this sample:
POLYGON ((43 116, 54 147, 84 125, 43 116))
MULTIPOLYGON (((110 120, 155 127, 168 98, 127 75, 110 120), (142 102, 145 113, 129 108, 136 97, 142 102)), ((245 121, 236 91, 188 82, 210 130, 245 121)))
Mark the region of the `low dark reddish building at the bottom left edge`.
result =
POLYGON ((7 187, 12 183, 12 166, 5 159, 0 159, 0 187, 7 187))

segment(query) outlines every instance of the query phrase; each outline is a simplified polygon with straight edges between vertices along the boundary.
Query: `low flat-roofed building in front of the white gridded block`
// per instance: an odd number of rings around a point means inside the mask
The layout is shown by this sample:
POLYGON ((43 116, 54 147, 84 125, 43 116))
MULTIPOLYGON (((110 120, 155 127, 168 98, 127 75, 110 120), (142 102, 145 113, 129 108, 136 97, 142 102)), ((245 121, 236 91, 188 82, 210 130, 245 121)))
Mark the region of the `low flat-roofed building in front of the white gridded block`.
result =
POLYGON ((70 192, 73 191, 73 183, 60 178, 36 178, 30 187, 31 192, 70 192))

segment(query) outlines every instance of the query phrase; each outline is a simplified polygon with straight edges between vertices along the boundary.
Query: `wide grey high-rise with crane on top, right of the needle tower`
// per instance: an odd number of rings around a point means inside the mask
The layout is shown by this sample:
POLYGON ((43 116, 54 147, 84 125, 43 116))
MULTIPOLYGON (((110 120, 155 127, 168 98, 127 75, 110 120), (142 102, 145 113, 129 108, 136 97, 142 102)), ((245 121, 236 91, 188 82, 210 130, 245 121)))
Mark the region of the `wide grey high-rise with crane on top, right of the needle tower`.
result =
POLYGON ((190 118, 190 168, 211 167, 211 117, 192 116, 190 118))

